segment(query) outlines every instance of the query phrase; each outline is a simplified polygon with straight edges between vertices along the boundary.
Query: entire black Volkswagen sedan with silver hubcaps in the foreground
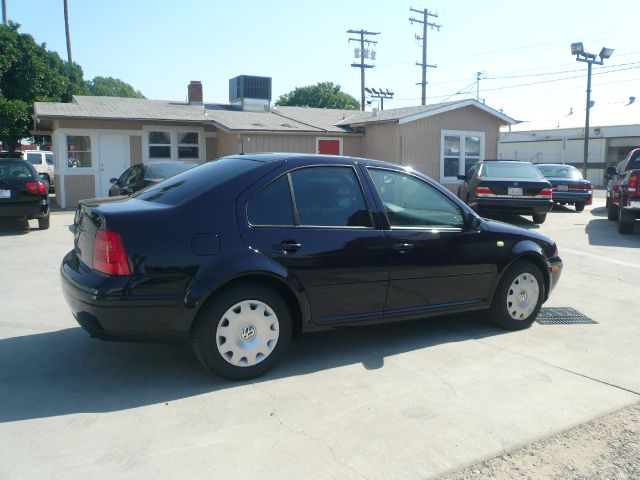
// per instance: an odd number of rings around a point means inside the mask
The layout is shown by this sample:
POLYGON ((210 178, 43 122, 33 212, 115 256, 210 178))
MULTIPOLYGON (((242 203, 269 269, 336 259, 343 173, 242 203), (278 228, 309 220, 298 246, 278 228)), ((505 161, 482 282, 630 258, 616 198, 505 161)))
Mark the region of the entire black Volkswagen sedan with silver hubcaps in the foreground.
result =
POLYGON ((338 156, 226 157, 81 203, 74 223, 63 291, 91 336, 190 339, 234 379, 299 332, 470 311, 527 328, 562 270, 551 238, 419 172, 338 156))

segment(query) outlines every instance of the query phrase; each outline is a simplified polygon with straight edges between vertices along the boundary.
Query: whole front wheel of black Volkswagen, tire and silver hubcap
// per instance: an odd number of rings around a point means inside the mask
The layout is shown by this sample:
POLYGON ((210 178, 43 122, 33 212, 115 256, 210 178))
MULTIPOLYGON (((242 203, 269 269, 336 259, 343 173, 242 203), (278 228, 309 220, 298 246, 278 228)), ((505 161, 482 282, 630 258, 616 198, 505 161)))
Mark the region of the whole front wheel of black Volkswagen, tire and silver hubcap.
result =
POLYGON ((515 263, 498 284, 489 311, 491 320, 508 330, 529 328, 542 307, 544 288, 538 267, 526 260, 515 263))

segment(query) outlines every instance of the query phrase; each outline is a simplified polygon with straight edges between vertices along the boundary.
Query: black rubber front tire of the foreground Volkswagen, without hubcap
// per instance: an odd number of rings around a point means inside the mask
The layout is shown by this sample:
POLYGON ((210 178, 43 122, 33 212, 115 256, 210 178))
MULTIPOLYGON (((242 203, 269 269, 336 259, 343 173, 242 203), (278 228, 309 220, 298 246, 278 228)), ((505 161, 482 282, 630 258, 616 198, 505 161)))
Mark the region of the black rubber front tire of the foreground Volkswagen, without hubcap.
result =
MULTIPOLYGON (((526 286, 523 284, 523 289, 528 292, 526 298, 527 309, 529 309, 528 302, 532 300, 532 298, 528 298, 531 296, 533 290, 531 288, 532 286, 533 283, 530 285, 527 284, 526 286)), ((498 287, 496 288, 495 294, 493 296, 491 309, 489 310, 489 318, 491 318, 491 321, 495 325, 506 328, 507 330, 523 330, 525 328, 529 328, 536 320, 536 317, 540 312, 544 296, 545 285, 540 269, 528 260, 519 260, 511 267, 509 267, 509 269, 500 279, 500 283, 498 284, 498 287), (531 313, 522 318, 515 318, 518 315, 512 315, 512 313, 514 312, 514 305, 510 301, 509 297, 513 297, 513 295, 519 295, 518 292, 512 291, 511 287, 514 281, 521 275, 521 280, 525 282, 529 282, 531 280, 531 277, 535 279, 535 282, 537 282, 538 297, 537 299, 535 299, 535 303, 531 305, 533 307, 531 313), (510 313, 510 311, 512 313, 510 313)), ((525 304, 523 303, 521 305, 525 304)), ((516 306, 516 309, 517 307, 518 306, 516 306)))

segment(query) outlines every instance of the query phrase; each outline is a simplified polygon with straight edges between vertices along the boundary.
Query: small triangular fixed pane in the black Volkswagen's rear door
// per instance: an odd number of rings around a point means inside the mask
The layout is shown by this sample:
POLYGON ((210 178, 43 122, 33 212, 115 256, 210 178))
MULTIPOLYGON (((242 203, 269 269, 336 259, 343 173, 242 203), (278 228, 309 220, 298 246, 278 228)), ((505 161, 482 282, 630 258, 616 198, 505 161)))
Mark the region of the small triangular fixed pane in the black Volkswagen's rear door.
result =
POLYGON ((292 226, 293 204, 287 176, 282 176, 254 195, 247 203, 251 225, 292 226))

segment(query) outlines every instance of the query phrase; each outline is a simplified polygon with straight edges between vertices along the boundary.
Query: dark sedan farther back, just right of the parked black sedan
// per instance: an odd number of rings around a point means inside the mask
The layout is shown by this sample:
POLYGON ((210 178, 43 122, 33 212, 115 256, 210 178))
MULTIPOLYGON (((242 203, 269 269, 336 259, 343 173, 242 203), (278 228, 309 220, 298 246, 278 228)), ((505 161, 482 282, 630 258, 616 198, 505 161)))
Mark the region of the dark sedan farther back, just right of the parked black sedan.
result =
POLYGON ((560 163, 540 163, 536 167, 551 182, 554 202, 574 205, 576 212, 583 211, 585 205, 593 202, 593 185, 582 178, 576 167, 560 163))

